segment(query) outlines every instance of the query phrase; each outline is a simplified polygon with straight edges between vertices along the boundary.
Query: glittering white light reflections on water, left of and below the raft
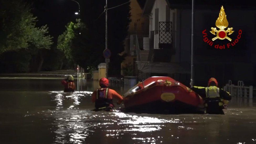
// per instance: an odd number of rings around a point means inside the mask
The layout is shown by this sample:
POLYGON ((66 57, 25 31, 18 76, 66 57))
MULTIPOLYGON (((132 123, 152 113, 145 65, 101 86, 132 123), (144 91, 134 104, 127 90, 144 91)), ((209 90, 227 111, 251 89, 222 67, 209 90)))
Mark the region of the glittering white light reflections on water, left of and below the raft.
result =
MULTIPOLYGON (((74 92, 64 93, 62 91, 52 91, 55 95, 56 110, 54 113, 56 131, 56 143, 83 143, 90 133, 93 133, 96 127, 104 132, 106 137, 119 138, 125 134, 134 134, 140 132, 159 131, 164 127, 164 123, 182 123, 180 119, 161 119, 157 117, 138 116, 134 113, 122 113, 119 110, 113 112, 94 112, 91 110, 79 110, 79 99, 90 98, 92 92, 74 92), (63 99, 73 101, 69 107, 64 108, 63 99), (135 132, 135 133, 134 133, 135 132)), ((159 136, 154 138, 137 139, 145 142, 156 142, 159 136)))

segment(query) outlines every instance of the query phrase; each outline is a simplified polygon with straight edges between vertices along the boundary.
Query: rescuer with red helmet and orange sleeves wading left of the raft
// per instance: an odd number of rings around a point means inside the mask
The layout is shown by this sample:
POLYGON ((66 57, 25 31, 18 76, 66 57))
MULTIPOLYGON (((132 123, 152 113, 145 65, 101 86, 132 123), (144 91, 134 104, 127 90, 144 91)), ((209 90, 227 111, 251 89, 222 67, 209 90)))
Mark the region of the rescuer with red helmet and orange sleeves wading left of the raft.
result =
POLYGON ((122 96, 115 90, 108 88, 109 81, 107 78, 100 79, 99 85, 100 88, 92 93, 92 102, 95 102, 96 110, 112 110, 114 108, 113 98, 118 100, 117 104, 122 103, 122 96))

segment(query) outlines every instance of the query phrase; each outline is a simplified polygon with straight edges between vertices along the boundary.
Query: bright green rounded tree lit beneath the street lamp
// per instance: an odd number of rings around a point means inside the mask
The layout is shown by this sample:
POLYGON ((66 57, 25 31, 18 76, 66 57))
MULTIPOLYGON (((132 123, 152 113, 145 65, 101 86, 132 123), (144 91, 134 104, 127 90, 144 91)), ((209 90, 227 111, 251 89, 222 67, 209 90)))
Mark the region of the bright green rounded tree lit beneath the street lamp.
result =
POLYGON ((88 29, 82 22, 69 22, 66 30, 58 37, 57 49, 61 50, 70 62, 87 70, 88 66, 95 67, 98 62, 90 40, 88 29))

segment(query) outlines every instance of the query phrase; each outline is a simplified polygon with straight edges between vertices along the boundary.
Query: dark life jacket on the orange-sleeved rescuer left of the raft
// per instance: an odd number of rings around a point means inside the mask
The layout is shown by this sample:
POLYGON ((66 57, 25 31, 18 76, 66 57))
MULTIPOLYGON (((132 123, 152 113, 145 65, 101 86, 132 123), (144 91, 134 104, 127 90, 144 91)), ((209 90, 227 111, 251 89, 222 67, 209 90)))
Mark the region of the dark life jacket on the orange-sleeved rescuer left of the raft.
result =
POLYGON ((105 108, 113 105, 113 100, 108 98, 108 90, 109 88, 99 88, 97 89, 97 95, 95 100, 95 108, 105 108))

